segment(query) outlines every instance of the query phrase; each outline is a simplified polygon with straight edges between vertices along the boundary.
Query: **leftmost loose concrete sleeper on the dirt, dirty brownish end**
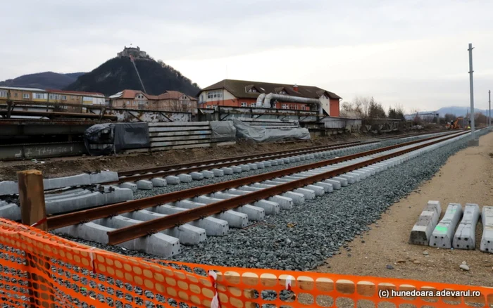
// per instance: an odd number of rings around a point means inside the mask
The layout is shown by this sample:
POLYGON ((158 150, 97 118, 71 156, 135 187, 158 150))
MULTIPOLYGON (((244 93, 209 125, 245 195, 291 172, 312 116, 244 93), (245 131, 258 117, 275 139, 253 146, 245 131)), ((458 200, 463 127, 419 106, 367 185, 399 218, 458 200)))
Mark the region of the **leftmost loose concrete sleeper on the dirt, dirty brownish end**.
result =
POLYGON ((425 210, 421 212, 418 222, 414 224, 409 237, 409 243, 427 245, 430 243, 432 232, 437 226, 438 218, 442 213, 439 201, 428 201, 425 210))

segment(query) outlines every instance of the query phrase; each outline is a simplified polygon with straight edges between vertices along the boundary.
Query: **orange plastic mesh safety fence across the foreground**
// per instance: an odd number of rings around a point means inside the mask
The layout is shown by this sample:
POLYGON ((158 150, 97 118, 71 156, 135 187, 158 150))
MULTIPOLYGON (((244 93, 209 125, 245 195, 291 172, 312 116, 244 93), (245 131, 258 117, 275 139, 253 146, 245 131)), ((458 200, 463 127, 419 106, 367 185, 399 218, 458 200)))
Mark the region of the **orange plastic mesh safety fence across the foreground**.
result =
POLYGON ((126 257, 0 219, 2 307, 493 307, 493 288, 126 257), (380 298, 387 290, 480 295, 380 298))

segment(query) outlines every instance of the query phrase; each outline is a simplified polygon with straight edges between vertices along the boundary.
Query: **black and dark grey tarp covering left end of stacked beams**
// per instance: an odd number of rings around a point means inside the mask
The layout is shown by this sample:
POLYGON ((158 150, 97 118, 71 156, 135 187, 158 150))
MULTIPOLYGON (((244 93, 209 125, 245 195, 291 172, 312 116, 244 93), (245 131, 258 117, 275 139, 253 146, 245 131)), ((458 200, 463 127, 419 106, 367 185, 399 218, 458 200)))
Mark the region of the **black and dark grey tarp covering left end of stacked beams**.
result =
POLYGON ((148 148, 149 126, 145 122, 95 124, 85 130, 84 143, 90 155, 109 155, 130 148, 148 148))

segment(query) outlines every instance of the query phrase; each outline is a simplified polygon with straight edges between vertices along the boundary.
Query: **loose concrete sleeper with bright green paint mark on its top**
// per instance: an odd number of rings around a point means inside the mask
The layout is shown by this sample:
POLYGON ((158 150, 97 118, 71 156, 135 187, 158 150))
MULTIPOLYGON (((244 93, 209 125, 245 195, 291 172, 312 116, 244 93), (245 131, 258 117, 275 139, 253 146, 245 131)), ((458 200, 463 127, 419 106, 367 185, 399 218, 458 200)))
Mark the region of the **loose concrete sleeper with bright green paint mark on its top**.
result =
POLYGON ((449 203, 442 220, 435 226, 430 238, 431 247, 451 248, 452 239, 459 220, 462 217, 462 205, 449 203))

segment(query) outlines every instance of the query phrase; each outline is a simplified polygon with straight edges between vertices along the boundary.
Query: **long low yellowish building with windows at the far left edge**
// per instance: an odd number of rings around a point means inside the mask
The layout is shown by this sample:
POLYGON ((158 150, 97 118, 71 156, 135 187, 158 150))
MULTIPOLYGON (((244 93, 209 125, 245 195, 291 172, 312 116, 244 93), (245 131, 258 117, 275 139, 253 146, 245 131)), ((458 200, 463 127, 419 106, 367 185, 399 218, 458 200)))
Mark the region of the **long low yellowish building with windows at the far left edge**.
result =
POLYGON ((0 86, 0 103, 6 101, 73 105, 106 104, 106 98, 102 93, 0 86))

